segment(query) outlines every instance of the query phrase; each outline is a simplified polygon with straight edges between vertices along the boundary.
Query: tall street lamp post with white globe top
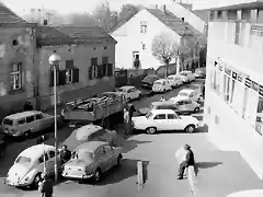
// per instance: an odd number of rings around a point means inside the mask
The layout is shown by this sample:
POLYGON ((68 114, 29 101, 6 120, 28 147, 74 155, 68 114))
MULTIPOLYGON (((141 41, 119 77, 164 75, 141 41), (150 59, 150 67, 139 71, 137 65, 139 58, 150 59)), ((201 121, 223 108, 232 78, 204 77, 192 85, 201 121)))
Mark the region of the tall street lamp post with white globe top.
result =
POLYGON ((54 51, 54 54, 48 59, 49 65, 53 67, 54 71, 54 114, 55 114, 55 183, 57 183, 58 170, 57 170, 57 68, 59 67, 59 62, 61 58, 59 55, 54 51))

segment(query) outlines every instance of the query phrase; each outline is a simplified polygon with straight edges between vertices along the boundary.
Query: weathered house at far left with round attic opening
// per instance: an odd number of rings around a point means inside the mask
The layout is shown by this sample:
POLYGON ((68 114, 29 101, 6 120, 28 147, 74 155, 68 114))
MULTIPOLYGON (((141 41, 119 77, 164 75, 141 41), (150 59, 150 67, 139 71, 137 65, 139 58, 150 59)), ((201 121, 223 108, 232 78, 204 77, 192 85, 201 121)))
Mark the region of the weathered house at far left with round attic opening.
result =
POLYGON ((35 105, 35 26, 0 3, 0 119, 35 105))

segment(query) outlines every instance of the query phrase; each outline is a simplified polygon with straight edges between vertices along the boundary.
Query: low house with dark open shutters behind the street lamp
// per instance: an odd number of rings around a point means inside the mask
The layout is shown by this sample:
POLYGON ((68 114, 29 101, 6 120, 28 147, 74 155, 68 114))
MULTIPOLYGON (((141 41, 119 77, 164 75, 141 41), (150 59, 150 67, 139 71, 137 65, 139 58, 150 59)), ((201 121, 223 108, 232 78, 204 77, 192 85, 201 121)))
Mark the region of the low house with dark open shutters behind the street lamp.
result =
POLYGON ((100 27, 38 27, 39 62, 37 97, 41 108, 53 105, 53 69, 49 56, 61 57, 57 73, 59 103, 72 102, 115 86, 115 39, 100 27))

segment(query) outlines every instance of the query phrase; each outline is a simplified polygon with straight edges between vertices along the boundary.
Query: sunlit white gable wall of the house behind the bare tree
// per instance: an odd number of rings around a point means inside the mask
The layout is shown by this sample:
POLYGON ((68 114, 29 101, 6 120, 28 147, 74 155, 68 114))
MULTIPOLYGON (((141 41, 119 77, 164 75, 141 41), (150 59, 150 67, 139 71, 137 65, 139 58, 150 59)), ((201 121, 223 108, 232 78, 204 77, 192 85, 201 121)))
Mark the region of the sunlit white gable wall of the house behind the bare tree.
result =
POLYGON ((139 51, 141 68, 157 69, 162 63, 151 55, 151 45, 155 36, 161 33, 171 34, 174 40, 180 43, 181 37, 147 10, 138 12, 127 23, 112 33, 112 36, 117 40, 116 68, 133 68, 133 51, 139 51), (140 33, 141 21, 147 21, 147 33, 140 33), (145 50, 142 50, 142 44, 146 45, 145 50))

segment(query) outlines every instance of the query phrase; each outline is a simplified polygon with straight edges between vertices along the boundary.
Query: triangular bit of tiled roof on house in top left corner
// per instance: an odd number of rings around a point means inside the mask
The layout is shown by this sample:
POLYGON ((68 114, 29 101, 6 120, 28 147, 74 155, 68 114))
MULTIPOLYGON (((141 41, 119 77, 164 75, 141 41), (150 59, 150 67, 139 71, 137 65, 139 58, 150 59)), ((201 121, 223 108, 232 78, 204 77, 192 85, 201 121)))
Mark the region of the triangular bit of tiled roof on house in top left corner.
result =
POLYGON ((0 23, 26 23, 26 21, 0 2, 0 23))

